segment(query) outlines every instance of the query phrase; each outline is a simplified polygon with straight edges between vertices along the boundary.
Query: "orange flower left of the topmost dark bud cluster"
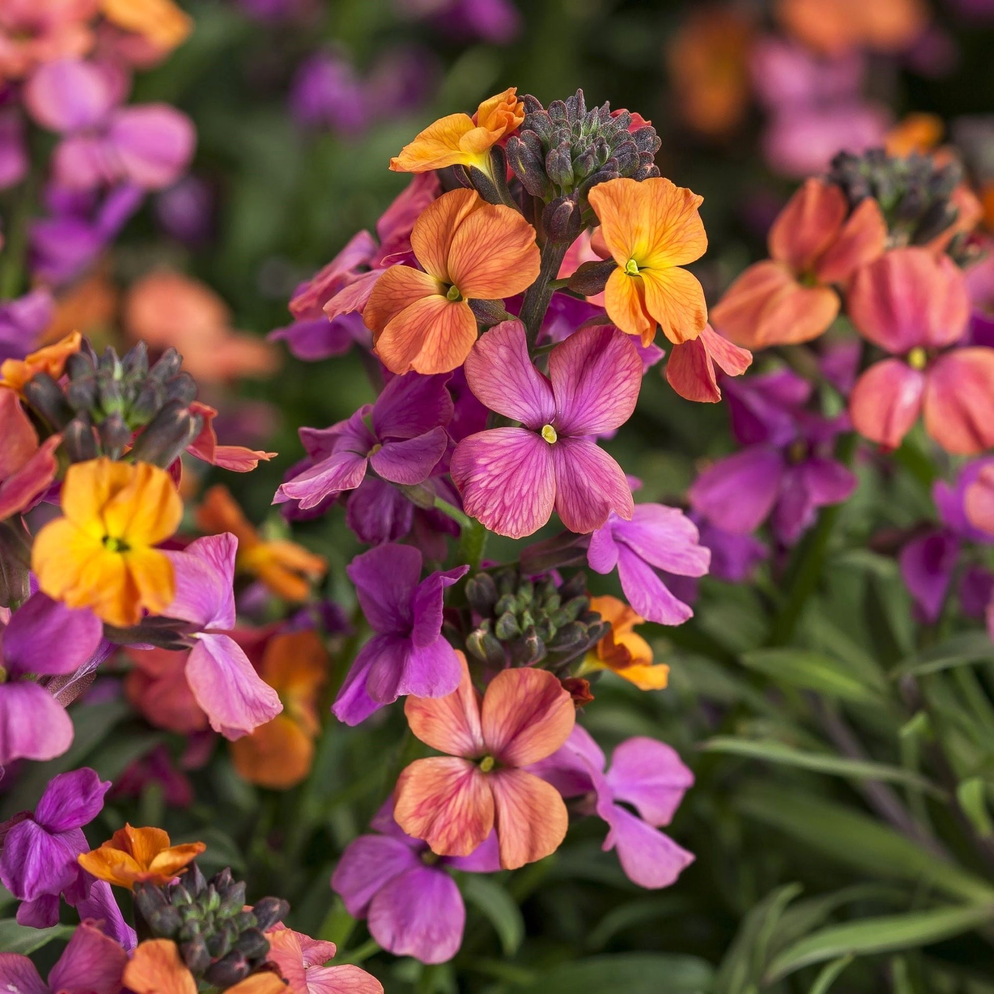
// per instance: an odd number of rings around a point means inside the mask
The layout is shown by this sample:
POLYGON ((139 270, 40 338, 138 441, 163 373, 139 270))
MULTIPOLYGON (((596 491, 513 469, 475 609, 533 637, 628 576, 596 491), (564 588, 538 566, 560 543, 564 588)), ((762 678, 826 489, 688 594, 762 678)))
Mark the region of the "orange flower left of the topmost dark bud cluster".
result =
POLYGON ((440 117, 390 160, 396 173, 426 173, 445 166, 475 166, 490 176, 490 149, 525 119, 517 86, 484 100, 469 114, 440 117))

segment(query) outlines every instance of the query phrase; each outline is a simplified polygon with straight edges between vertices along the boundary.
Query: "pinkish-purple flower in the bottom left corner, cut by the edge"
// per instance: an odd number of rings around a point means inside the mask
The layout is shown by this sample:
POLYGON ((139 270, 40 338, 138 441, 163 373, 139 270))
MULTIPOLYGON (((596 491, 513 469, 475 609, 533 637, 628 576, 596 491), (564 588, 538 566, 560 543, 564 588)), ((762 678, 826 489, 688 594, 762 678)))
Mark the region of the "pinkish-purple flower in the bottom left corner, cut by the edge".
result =
POLYGON ((0 987, 16 994, 117 994, 127 964, 120 943, 83 922, 42 980, 35 964, 16 952, 0 952, 0 987))

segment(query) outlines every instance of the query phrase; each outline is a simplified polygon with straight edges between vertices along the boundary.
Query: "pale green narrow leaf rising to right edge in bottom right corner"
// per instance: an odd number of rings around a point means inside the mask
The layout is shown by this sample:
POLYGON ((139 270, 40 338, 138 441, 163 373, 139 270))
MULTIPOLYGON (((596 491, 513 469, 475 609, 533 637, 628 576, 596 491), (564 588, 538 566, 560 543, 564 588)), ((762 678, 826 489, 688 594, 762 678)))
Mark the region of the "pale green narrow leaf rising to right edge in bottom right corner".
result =
POLYGON ((994 919, 994 906, 935 908, 829 925, 794 943, 770 964, 767 982, 836 956, 867 955, 913 949, 969 931, 994 919))

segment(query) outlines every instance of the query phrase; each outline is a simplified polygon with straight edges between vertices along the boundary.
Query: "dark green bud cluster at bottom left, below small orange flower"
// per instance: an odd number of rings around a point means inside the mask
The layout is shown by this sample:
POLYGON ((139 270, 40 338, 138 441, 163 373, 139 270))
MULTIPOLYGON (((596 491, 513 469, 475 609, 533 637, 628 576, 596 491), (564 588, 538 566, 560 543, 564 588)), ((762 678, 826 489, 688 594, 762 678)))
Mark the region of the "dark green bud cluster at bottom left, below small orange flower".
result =
POLYGON ((222 990, 259 970, 269 953, 265 930, 289 911, 278 898, 247 910, 245 882, 229 869, 205 880, 196 864, 182 884, 136 886, 134 902, 139 931, 172 939, 190 972, 222 990))

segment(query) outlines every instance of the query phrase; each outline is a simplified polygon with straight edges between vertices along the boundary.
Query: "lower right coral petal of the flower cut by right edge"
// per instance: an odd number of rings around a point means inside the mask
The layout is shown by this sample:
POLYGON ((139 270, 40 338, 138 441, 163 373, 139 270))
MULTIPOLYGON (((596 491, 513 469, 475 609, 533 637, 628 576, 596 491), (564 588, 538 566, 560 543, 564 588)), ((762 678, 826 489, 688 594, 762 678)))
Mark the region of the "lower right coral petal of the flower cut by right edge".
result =
POLYGON ((947 452, 976 455, 994 446, 994 349, 957 349, 927 373, 925 430, 947 452))

